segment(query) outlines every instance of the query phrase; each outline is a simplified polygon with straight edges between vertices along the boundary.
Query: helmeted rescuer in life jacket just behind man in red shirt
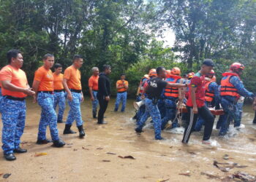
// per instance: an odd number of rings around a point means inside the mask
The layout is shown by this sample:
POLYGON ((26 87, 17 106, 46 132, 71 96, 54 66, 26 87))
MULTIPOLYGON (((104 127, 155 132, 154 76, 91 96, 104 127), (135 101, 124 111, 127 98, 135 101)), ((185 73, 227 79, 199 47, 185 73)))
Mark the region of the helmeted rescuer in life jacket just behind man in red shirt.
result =
MULTIPOLYGON (((209 74, 206 75, 206 106, 208 108, 215 107, 216 109, 219 109, 219 85, 216 83, 216 77, 214 70, 211 70, 209 74)), ((198 117, 197 123, 195 124, 195 131, 200 131, 201 127, 205 121, 200 116, 198 117)))

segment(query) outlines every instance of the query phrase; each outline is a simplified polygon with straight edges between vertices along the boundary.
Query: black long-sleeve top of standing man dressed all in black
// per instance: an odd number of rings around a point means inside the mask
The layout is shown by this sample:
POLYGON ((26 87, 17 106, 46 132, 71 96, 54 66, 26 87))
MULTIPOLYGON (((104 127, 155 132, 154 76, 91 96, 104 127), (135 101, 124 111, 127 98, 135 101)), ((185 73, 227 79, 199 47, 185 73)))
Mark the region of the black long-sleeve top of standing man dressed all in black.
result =
POLYGON ((99 81, 98 81, 98 95, 100 96, 110 96, 110 79, 104 73, 99 74, 99 81))

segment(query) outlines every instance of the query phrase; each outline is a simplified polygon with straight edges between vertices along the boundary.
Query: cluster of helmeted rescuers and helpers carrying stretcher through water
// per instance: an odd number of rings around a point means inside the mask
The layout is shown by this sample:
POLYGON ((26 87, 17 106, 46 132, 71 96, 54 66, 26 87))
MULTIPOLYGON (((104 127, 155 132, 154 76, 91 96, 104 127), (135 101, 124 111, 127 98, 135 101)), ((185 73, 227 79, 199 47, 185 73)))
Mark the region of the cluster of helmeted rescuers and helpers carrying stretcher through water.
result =
POLYGON ((210 59, 203 61, 197 74, 191 72, 181 76, 181 70, 177 67, 166 71, 162 67, 157 68, 159 70, 152 68, 140 80, 138 87, 137 102, 143 100, 144 104, 140 104, 140 108, 133 117, 136 119, 135 131, 142 132, 144 123, 148 116, 151 116, 154 122, 155 139, 161 140, 161 130, 180 127, 178 117, 183 106, 187 106, 187 113, 181 116, 182 120, 185 120, 186 127, 183 143, 188 142, 192 131, 200 131, 205 125, 204 135, 206 136, 203 138, 203 143, 211 144, 209 139, 215 116, 207 108, 224 112, 217 121, 220 136, 227 135, 231 122, 239 130, 244 97, 255 97, 252 92, 244 88, 241 81, 240 76, 244 65, 233 63, 229 71, 222 74, 219 85, 213 68, 214 62, 210 59), (168 84, 173 84, 173 87, 168 84), (185 84, 188 87, 182 87, 179 84, 185 84), (167 124, 168 122, 171 124, 167 124))

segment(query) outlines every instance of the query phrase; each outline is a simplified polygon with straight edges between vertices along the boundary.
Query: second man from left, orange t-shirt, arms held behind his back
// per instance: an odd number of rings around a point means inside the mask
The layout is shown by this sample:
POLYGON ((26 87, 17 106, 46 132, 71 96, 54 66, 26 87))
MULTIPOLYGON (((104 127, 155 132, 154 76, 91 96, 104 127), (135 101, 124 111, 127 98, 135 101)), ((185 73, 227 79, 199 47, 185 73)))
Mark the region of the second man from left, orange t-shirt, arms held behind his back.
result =
POLYGON ((46 54, 42 60, 44 65, 35 72, 33 82, 33 90, 36 92, 34 103, 38 102, 39 106, 42 108, 37 144, 50 142, 46 139, 46 127, 49 125, 53 146, 61 147, 64 146, 65 143, 59 138, 57 116, 53 108, 53 73, 50 70, 54 64, 54 56, 46 54))

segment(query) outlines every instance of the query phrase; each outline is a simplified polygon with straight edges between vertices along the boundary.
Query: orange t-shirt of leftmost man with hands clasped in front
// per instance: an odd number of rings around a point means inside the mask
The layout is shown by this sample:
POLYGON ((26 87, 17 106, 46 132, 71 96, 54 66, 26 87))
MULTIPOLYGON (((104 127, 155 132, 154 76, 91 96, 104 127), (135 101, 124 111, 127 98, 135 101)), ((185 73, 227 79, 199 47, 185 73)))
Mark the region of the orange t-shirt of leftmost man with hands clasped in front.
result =
MULTIPOLYGON (((1 81, 10 81, 16 87, 26 88, 28 84, 25 72, 10 65, 4 66, 4 68, 1 69, 0 78, 1 81)), ((4 88, 1 88, 1 94, 10 95, 15 98, 25 98, 27 96, 23 92, 13 92, 4 88)))

